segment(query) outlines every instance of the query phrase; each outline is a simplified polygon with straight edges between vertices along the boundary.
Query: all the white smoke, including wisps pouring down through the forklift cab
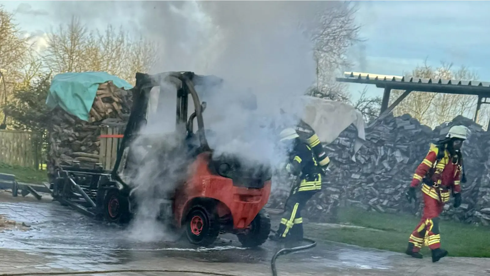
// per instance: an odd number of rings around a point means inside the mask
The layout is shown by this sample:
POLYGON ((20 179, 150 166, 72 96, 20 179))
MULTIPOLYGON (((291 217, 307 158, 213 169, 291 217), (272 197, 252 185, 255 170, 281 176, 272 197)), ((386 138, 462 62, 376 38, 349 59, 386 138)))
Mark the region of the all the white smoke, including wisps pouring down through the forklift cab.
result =
MULTIPOLYGON (((91 3, 90 9, 97 3, 91 3)), ((140 1, 125 5, 133 5, 127 10, 132 27, 162 45, 156 57, 159 62, 148 73, 193 71, 224 80, 218 90, 199 91, 200 100, 207 102, 205 128, 213 133, 208 142, 217 154, 235 154, 250 164, 277 166, 285 161, 285 149, 277 147, 276 133, 269 126, 284 121, 279 108, 294 102, 315 82, 316 62, 308 32, 317 26, 318 12, 332 5, 330 1, 140 1), (243 106, 245 92, 256 95, 256 110, 243 106)), ((114 10, 124 14, 121 8, 114 10)), ((171 131, 175 122, 175 95, 160 101, 168 103, 165 115, 148 119, 143 130, 155 137, 171 131)), ((285 111, 299 114, 302 108, 298 101, 285 111)), ((295 121, 291 118, 287 123, 294 125, 295 121)), ((157 155, 156 149, 141 149, 140 158, 148 154, 157 155)), ((175 159, 165 164, 142 161, 134 182, 142 185, 142 218, 156 217, 160 203, 156 195, 178 184, 185 174, 178 170, 182 164, 175 159), (167 173, 163 178, 162 171, 167 173)), ((133 230, 136 237, 159 238, 147 221, 138 224, 133 230)))

